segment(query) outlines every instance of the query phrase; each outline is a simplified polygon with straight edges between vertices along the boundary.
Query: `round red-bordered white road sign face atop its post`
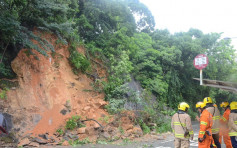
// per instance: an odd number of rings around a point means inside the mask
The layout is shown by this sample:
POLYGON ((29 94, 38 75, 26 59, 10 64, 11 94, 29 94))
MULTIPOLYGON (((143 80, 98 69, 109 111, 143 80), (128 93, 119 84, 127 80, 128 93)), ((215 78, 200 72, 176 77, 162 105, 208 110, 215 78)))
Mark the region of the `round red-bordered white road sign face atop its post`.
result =
POLYGON ((208 58, 205 54, 199 54, 193 60, 193 65, 196 69, 202 70, 208 65, 208 58))

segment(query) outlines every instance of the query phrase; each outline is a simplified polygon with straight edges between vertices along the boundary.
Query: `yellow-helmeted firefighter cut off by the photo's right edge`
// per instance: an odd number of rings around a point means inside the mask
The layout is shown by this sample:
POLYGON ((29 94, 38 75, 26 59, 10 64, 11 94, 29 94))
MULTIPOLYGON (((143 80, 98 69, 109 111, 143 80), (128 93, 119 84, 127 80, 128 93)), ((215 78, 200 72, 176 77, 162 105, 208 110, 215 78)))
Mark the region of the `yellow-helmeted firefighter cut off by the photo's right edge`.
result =
POLYGON ((233 148, 237 148, 237 102, 230 103, 230 116, 229 116, 229 136, 233 148))

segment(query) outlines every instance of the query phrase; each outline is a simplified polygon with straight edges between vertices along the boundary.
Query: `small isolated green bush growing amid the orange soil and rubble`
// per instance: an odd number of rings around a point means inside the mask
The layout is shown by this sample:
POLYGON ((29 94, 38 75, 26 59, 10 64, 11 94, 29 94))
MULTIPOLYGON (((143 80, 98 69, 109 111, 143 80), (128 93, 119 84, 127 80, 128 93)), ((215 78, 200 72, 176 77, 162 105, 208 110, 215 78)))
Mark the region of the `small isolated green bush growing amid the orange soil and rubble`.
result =
POLYGON ((75 128, 84 127, 85 125, 80 122, 80 116, 72 116, 67 123, 66 123, 66 129, 73 130, 75 128))

